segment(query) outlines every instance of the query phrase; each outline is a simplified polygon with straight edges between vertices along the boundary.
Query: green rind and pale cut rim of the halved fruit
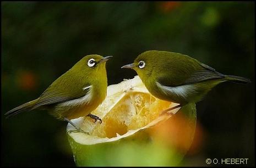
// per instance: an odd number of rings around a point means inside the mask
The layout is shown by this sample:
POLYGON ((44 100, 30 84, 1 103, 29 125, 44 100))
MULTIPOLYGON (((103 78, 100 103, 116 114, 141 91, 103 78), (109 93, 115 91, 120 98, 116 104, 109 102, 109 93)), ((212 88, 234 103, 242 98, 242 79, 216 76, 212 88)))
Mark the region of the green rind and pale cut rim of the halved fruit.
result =
MULTIPOLYGON (((195 104, 182 107, 180 112, 186 114, 190 126, 195 130, 197 119, 195 104)), ((177 166, 186 153, 181 153, 175 147, 166 148, 165 145, 152 142, 149 133, 145 131, 146 128, 165 122, 169 118, 170 116, 164 115, 143 128, 115 138, 70 133, 68 141, 75 164, 77 166, 177 166), (94 138, 98 140, 94 141, 94 138)), ((191 143, 193 137, 194 131, 191 135, 191 143)))

